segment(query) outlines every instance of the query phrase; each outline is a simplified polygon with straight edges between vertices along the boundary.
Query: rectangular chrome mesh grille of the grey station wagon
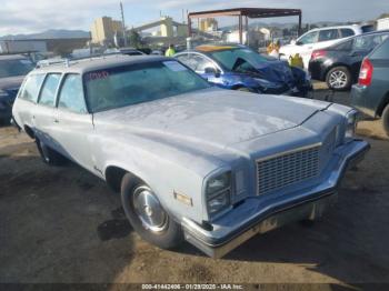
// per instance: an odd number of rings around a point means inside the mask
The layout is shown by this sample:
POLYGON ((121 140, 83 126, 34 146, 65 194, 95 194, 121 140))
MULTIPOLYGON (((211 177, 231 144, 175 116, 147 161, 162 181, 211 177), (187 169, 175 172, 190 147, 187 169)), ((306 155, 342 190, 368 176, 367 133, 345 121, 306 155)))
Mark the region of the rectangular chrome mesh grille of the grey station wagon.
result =
POLYGON ((312 146, 258 160, 258 194, 267 194, 318 175, 319 151, 320 146, 312 146))

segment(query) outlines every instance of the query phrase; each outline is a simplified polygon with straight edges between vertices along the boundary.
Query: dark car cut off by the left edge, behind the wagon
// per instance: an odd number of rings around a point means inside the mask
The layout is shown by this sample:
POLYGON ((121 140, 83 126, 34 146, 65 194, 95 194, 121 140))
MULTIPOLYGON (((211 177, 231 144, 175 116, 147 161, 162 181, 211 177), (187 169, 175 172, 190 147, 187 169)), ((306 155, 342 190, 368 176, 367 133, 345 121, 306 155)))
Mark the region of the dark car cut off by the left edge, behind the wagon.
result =
POLYGON ((33 69, 31 60, 21 54, 0 56, 0 122, 9 123, 12 104, 26 74, 33 69))

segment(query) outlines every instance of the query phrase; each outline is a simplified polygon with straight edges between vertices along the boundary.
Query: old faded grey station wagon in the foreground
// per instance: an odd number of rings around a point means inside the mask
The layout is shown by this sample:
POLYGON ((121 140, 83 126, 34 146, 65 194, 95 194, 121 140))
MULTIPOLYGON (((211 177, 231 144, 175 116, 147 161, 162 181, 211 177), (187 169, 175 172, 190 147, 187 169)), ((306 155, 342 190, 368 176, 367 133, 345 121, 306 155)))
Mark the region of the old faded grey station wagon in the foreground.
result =
MULTIPOLYGON (((369 149, 351 108, 210 87, 179 61, 112 56, 47 66, 13 117, 48 164, 70 159, 121 193, 144 240, 222 257, 315 220, 369 149)), ((70 213, 69 213, 70 214, 70 213)))

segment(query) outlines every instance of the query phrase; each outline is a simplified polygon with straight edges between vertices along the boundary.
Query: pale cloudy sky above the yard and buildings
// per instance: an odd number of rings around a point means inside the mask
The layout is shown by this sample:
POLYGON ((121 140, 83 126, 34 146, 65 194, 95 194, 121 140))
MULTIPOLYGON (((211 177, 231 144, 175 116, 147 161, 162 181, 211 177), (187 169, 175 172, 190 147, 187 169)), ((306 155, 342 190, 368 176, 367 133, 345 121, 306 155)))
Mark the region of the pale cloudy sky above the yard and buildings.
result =
MULTIPOLYGON (((41 32, 48 29, 90 30, 94 18, 120 19, 119 0, 1 0, 0 36, 41 32)), ((303 22, 363 21, 389 12, 389 0, 122 0, 127 27, 171 16, 182 20, 183 11, 237 7, 298 8, 303 22)), ((293 22, 293 19, 271 19, 293 22)))

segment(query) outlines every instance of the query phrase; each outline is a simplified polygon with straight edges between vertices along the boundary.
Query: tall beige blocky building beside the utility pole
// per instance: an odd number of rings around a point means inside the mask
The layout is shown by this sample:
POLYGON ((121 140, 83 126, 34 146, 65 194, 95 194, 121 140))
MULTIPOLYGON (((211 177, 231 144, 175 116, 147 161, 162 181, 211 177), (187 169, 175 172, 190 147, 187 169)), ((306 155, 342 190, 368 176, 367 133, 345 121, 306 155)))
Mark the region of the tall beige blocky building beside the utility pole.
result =
POLYGON ((123 27, 119 20, 112 20, 110 17, 94 19, 90 28, 92 43, 112 46, 114 43, 114 37, 118 33, 122 33, 122 30, 123 27))

